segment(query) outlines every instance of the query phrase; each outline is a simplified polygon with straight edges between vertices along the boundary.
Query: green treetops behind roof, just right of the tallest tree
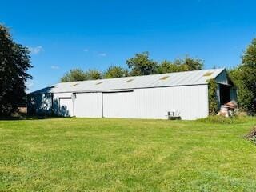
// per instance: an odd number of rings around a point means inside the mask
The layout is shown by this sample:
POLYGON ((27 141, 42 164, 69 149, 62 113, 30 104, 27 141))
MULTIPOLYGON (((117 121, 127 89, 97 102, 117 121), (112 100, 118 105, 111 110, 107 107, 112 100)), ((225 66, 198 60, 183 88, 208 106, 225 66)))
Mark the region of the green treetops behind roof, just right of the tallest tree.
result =
POLYGON ((190 58, 188 55, 183 59, 176 59, 174 62, 163 61, 158 65, 158 73, 173 73, 188 70, 202 70, 203 61, 198 58, 190 58))

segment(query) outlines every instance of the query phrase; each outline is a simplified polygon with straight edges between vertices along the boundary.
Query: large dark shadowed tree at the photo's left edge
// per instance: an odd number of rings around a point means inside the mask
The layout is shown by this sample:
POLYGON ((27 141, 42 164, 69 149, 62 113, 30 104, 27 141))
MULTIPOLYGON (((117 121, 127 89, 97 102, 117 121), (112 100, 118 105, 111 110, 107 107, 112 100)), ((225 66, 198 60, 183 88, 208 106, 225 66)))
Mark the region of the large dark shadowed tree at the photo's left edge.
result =
POLYGON ((9 30, 0 25, 0 116, 10 116, 26 102, 27 74, 32 65, 30 51, 11 38, 9 30))

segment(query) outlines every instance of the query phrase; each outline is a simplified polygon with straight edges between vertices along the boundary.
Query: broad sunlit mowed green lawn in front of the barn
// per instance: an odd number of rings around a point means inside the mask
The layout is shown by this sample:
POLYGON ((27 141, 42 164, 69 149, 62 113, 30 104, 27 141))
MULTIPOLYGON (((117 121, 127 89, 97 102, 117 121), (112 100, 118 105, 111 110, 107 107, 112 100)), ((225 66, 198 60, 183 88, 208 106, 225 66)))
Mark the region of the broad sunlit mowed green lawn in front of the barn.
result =
POLYGON ((0 121, 0 191, 255 191, 254 124, 0 121))

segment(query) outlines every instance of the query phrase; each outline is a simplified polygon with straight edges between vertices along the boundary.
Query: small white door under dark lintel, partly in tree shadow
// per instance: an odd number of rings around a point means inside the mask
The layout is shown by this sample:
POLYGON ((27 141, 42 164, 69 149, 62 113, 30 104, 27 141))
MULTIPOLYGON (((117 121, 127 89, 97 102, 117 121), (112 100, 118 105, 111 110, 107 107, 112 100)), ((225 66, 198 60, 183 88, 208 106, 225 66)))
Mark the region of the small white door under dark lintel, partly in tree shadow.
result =
POLYGON ((59 98, 59 114, 63 117, 74 116, 72 98, 59 98))

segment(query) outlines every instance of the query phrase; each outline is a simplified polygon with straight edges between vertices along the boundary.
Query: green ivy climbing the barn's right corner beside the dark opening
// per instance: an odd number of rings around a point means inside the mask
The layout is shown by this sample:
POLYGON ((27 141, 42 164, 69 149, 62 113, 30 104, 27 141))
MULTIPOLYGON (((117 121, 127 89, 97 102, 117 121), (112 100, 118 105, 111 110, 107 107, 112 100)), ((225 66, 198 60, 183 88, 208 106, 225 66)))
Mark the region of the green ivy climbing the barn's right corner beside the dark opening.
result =
POLYGON ((208 98, 209 98, 209 114, 215 115, 218 113, 218 98, 217 98, 217 83, 214 79, 208 82, 208 98))

